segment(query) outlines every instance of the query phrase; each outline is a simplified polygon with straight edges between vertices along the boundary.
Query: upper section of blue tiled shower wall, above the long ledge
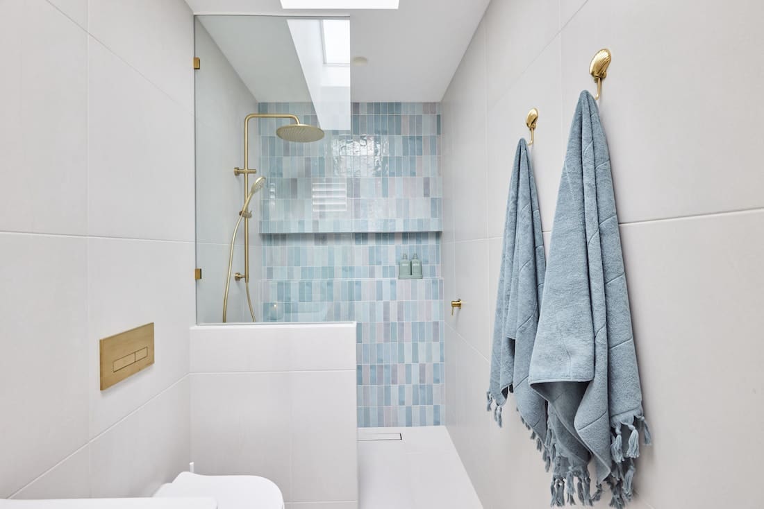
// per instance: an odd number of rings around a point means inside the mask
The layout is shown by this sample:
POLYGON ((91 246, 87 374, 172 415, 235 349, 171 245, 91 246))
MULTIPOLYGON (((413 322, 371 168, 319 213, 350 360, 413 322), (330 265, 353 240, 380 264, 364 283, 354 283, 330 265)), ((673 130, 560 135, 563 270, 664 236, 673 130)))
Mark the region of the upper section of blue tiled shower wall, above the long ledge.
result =
MULTIPOLYGON (((310 103, 261 103, 317 124, 310 103)), ((259 122, 259 164, 268 177, 261 233, 440 231, 440 106, 353 103, 351 131, 316 143, 276 136, 284 121, 259 122)))

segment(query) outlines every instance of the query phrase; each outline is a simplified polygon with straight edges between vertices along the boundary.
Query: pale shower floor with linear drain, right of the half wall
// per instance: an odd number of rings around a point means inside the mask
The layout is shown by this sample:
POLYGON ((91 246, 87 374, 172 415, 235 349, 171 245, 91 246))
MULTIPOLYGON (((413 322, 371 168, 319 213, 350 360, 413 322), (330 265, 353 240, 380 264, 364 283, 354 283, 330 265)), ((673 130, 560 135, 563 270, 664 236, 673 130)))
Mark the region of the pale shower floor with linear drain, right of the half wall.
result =
POLYGON ((445 426, 358 430, 359 509, 483 509, 445 426), (400 433, 403 440, 364 440, 400 433))

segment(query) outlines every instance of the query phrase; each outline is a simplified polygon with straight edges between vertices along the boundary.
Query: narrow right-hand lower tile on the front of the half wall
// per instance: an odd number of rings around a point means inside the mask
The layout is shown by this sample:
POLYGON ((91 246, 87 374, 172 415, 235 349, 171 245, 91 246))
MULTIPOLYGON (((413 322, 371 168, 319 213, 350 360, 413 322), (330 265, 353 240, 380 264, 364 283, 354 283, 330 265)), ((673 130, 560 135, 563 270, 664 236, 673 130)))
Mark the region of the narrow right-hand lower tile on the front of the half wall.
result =
POLYGON ((358 500, 355 370, 290 373, 291 501, 358 500))

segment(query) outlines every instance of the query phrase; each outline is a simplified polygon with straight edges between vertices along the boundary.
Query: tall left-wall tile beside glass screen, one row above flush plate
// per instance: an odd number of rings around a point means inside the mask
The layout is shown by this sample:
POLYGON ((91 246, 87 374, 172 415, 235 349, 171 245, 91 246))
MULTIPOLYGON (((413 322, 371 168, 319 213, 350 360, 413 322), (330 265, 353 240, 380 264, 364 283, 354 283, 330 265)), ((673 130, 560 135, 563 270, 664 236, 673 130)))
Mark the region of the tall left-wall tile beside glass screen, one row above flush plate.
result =
POLYGON ((193 241, 192 114, 91 37, 88 118, 89 234, 193 241))

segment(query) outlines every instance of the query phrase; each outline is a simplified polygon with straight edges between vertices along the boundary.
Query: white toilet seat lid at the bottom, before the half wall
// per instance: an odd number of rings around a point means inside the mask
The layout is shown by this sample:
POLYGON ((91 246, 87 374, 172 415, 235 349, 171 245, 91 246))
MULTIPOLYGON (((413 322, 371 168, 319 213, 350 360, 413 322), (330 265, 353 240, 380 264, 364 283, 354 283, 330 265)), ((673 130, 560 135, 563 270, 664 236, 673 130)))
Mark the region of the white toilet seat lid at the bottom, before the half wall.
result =
POLYGON ((199 475, 180 472, 154 497, 211 497, 218 509, 283 509, 281 490, 256 475, 199 475))

